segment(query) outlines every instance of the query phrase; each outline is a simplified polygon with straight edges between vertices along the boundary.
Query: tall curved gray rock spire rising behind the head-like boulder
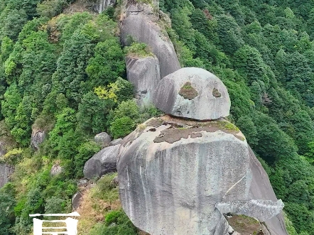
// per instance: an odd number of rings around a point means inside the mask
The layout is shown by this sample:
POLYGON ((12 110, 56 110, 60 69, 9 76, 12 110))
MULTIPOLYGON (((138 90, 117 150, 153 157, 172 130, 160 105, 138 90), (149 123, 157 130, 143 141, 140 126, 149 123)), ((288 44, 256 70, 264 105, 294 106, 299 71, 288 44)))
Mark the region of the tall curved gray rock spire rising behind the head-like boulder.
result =
POLYGON ((180 69, 180 63, 173 43, 156 22, 156 15, 148 5, 128 5, 120 22, 120 37, 129 45, 131 36, 140 43, 146 43, 157 56, 161 67, 161 78, 180 69))

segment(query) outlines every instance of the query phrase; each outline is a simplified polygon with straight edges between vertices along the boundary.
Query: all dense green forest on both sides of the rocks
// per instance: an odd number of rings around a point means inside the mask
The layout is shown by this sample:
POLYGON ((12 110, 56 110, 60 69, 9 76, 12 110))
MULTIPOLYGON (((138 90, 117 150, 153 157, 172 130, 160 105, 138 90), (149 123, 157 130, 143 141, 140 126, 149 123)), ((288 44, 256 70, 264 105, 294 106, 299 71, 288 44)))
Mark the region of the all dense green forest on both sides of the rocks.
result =
MULTIPOLYGON (((140 47, 119 43, 119 1, 99 15, 63 14, 70 4, 0 2, 0 142, 7 152, 0 160, 16 168, 0 190, 0 234, 29 234, 28 214, 71 210, 84 163, 99 151, 94 134, 123 137, 158 114, 136 106, 125 80, 124 56, 140 47), (48 133, 40 151, 29 148, 32 129, 48 133), (55 163, 65 170, 52 177, 55 163)), ((285 203, 289 233, 313 234, 314 2, 161 0, 160 8, 171 18, 167 31, 181 65, 205 68, 226 84, 229 120, 285 203)), ((118 197, 106 180, 98 187, 118 197)), ((87 233, 137 231, 118 209, 87 233)))

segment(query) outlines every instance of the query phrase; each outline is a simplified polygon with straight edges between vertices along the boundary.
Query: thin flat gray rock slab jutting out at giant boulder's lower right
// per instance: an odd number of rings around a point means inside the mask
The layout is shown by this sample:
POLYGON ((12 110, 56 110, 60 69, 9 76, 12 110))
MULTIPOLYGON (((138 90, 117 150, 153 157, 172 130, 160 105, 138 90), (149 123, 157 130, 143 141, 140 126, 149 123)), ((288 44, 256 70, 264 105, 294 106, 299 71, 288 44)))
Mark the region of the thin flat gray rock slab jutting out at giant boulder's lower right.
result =
POLYGON ((281 200, 277 202, 271 200, 218 202, 216 207, 222 214, 244 214, 259 219, 259 222, 265 222, 281 212, 283 202, 281 200))

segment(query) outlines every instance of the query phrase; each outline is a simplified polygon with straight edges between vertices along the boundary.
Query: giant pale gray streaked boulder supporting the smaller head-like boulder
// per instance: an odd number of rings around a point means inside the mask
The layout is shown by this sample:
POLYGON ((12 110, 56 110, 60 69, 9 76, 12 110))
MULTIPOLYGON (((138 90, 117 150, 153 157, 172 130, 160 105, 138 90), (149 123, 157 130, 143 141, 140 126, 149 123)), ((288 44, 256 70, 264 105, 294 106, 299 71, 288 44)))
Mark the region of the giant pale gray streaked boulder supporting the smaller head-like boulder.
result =
MULTIPOLYGON (((122 206, 151 235, 227 234, 216 204, 248 200, 249 161, 247 141, 228 121, 150 119, 121 143, 122 206)), ((280 202, 278 207, 266 219, 280 212, 280 202)))

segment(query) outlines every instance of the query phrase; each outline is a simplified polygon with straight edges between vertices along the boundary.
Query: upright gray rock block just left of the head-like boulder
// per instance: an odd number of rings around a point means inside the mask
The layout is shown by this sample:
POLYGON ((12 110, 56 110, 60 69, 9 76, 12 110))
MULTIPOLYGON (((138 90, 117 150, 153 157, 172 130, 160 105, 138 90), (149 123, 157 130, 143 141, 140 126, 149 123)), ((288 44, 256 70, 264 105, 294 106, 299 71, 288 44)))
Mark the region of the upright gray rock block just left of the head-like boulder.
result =
POLYGON ((153 104, 153 92, 161 80, 158 58, 126 57, 126 74, 129 82, 134 84, 136 99, 140 106, 149 107, 153 104))

